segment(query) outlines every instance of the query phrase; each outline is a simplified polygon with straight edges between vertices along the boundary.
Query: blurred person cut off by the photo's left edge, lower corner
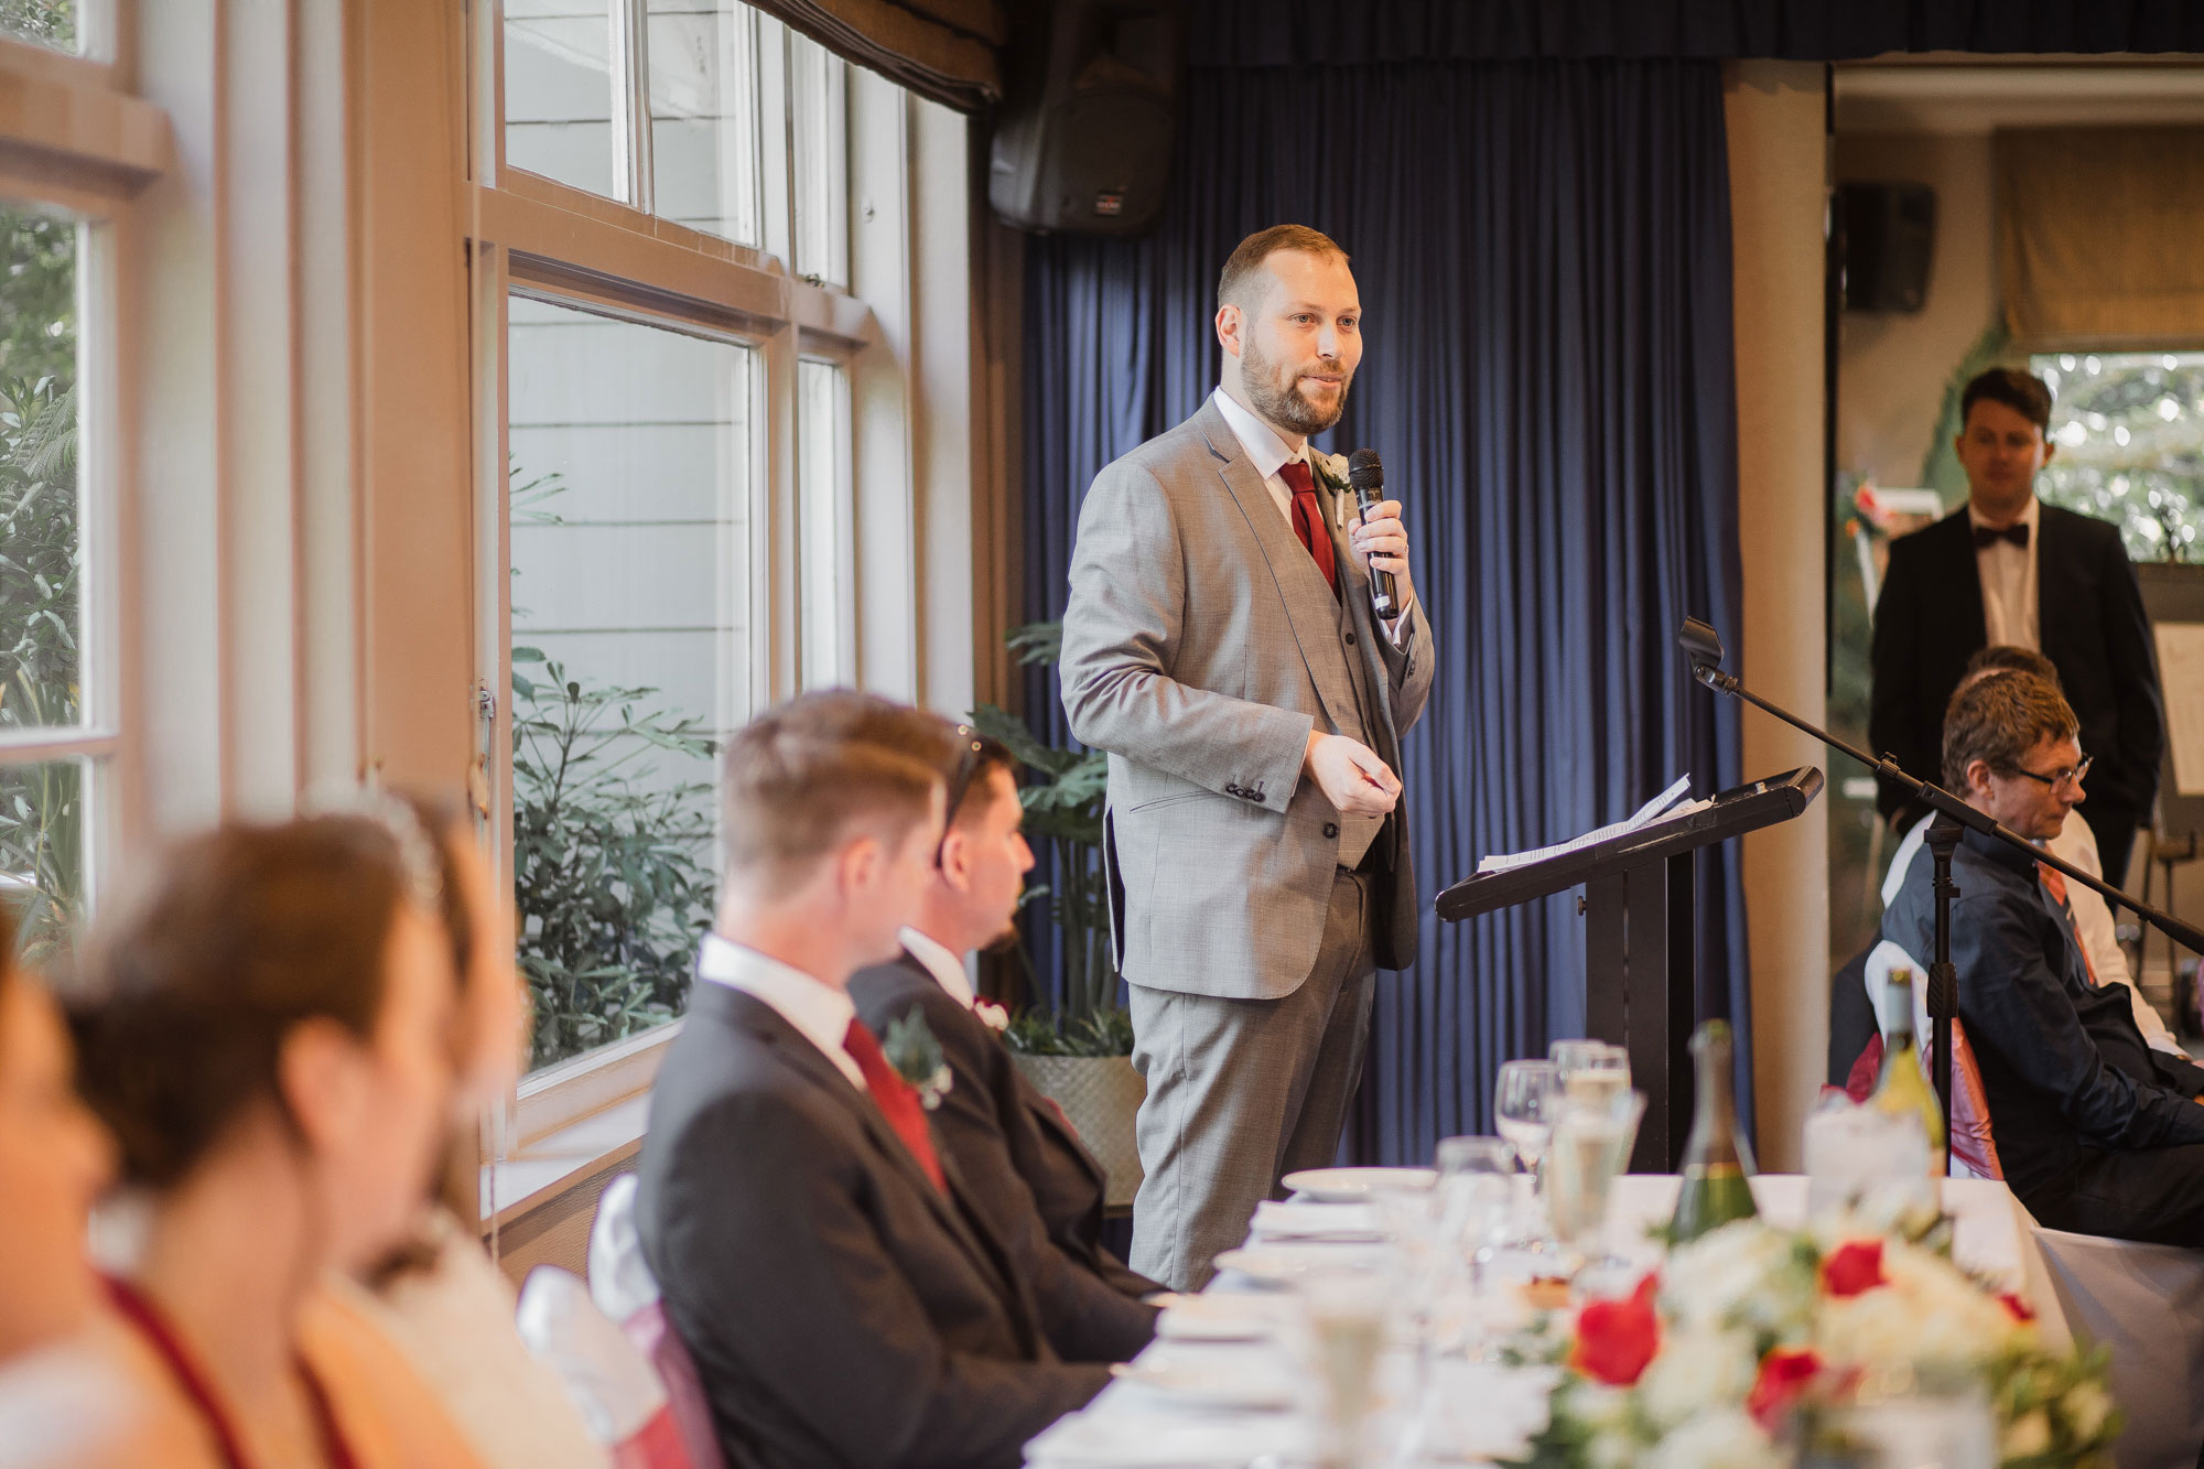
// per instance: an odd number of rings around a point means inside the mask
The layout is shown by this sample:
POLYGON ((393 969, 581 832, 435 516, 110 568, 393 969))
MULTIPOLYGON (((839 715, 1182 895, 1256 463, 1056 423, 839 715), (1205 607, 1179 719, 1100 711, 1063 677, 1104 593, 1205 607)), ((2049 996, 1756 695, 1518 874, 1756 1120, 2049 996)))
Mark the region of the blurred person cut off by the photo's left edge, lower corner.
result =
POLYGON ((97 1297, 84 1226, 115 1149, 68 1070, 62 1017, 18 971, 0 911, 0 1465, 84 1462, 121 1427, 112 1383, 75 1350, 97 1297))

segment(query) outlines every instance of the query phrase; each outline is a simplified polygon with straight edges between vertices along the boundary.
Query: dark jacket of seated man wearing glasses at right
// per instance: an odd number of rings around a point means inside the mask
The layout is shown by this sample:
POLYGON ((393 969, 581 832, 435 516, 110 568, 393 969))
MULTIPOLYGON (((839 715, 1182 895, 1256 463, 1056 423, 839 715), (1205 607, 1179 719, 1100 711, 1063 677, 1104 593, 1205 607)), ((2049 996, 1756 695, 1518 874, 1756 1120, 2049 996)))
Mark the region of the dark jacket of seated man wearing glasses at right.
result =
MULTIPOLYGON (((1935 953, 1933 862, 1913 862, 1882 937, 1935 953)), ((2023 851, 1968 832, 1951 860, 1959 1021, 1981 1063, 2006 1182, 2034 1209, 2061 1198, 2085 1151, 2204 1143, 2204 1070, 2151 1050, 2125 986, 2089 984, 2065 915, 2023 851)))

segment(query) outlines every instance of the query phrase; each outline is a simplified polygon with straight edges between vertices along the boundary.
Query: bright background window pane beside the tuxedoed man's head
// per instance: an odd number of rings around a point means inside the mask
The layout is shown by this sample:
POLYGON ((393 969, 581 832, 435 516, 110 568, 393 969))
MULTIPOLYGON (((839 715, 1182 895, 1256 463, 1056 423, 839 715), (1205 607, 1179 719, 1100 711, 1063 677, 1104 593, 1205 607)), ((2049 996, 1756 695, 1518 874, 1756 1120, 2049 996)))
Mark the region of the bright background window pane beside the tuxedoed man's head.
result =
POLYGON ((2114 521, 2133 560, 2204 560, 2204 353, 2052 353, 2052 505, 2114 521))

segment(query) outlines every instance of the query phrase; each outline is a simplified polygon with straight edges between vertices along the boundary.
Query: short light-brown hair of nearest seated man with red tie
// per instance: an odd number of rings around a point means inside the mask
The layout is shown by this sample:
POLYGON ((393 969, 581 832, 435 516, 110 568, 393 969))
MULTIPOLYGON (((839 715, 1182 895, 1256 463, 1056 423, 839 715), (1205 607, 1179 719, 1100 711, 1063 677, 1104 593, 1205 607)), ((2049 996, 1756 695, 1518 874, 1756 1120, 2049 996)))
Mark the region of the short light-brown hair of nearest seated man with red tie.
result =
POLYGON ((846 688, 765 710, 721 761, 727 876, 778 896, 857 827, 901 840, 932 809, 954 746, 939 715, 846 688))

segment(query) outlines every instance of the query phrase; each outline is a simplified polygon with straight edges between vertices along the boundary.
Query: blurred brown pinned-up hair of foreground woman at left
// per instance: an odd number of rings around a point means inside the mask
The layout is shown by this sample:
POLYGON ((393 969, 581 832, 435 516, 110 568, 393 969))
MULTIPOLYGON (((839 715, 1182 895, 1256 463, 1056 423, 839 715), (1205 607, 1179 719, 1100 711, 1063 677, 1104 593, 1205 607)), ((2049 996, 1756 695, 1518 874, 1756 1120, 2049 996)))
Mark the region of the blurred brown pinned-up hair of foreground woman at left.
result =
POLYGON ((289 1116, 278 1070, 302 1021, 370 1041, 401 904, 452 926, 445 867, 410 807, 179 843, 86 942, 68 997, 79 1090, 123 1180, 174 1187, 253 1105, 289 1116))

